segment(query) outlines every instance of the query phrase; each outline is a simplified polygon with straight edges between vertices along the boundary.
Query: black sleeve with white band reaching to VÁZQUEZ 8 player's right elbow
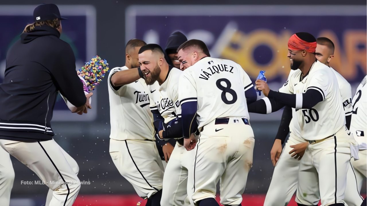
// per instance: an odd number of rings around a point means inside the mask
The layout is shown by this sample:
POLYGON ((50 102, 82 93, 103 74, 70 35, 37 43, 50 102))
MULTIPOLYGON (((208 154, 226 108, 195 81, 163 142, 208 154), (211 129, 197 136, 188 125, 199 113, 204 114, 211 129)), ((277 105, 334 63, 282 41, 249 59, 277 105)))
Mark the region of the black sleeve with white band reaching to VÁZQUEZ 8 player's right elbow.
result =
POLYGON ((276 102, 273 99, 264 98, 247 105, 247 110, 251 113, 270 114, 272 112, 280 110, 283 107, 284 104, 282 103, 276 102), (265 101, 269 101, 268 105, 266 105, 265 101))

